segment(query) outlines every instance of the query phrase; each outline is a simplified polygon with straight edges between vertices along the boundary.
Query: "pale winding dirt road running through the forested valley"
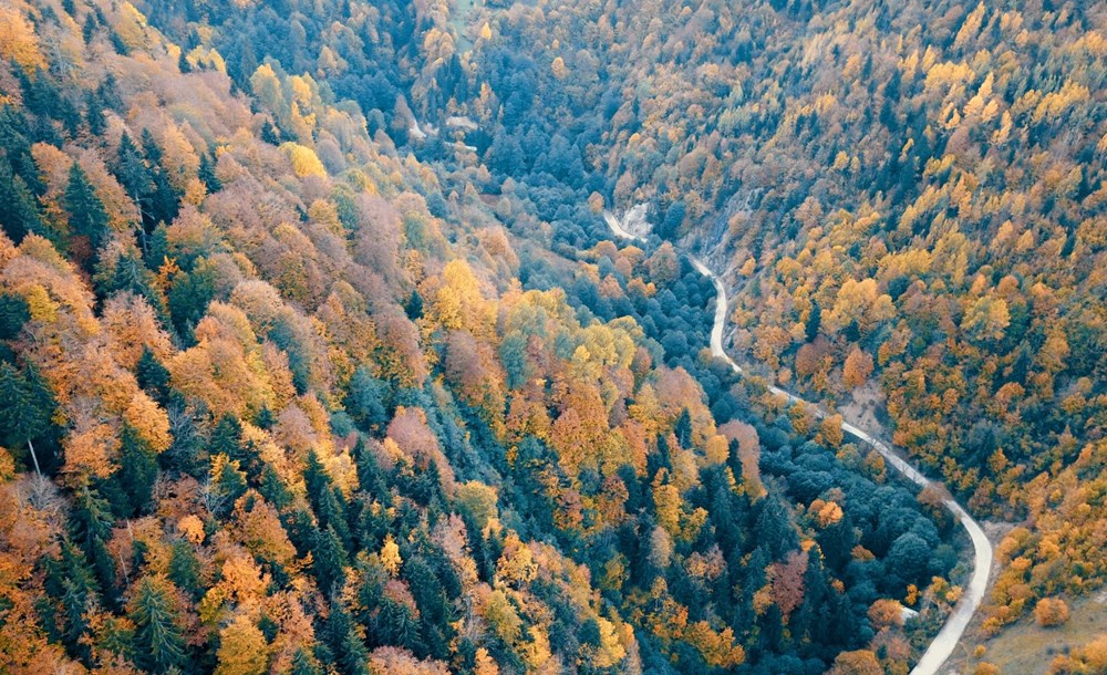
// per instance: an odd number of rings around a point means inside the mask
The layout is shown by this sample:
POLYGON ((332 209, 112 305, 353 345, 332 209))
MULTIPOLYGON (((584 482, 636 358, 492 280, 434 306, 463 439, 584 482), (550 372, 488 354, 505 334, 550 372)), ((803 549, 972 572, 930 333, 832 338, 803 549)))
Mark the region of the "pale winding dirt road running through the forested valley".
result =
MULTIPOLYGON (((611 212, 604 211, 603 219, 607 221, 608 227, 617 237, 622 239, 630 239, 633 241, 643 241, 642 237, 632 235, 623 229, 622 224, 619 219, 611 212)), ((731 365, 735 373, 739 375, 745 375, 745 371, 742 370, 730 354, 723 349, 723 329, 726 326, 726 288, 723 285, 722 280, 711 271, 702 260, 692 256, 691 253, 685 253, 689 260, 692 261, 692 266, 695 267, 696 271, 711 279, 715 284, 715 322, 711 329, 711 354, 716 359, 722 359, 731 365)), ((815 415, 818 417, 826 417, 828 414, 820 406, 811 404, 803 398, 782 390, 778 386, 769 386, 769 392, 776 394, 777 396, 784 396, 790 404, 804 404, 809 406, 815 411, 815 415)), ((848 422, 842 422, 841 429, 867 444, 869 444, 873 449, 880 453, 881 457, 886 461, 892 465, 892 467, 900 474, 906 476, 911 482, 925 488, 932 485, 932 481, 922 475, 918 469, 908 464, 899 454, 897 454, 892 448, 890 448, 884 443, 873 438, 870 434, 866 433, 848 422)), ((919 663, 915 664, 914 668, 911 671, 911 675, 935 675, 942 664, 953 654, 953 650, 956 648, 958 642, 960 642, 961 636, 964 634, 965 629, 969 627, 969 623, 972 621, 973 614, 976 613, 976 609, 980 606, 981 601, 984 600, 984 592, 987 590, 989 574, 992 571, 992 542, 987 540, 984 536, 984 530, 981 529, 980 523, 977 523, 972 516, 952 497, 946 497, 942 500, 942 505, 949 509, 951 513, 961 522, 965 531, 969 532, 970 539, 972 539, 972 546, 974 549, 974 561, 973 561, 973 572, 972 578, 969 581, 969 588, 962 594, 961 600, 958 602, 953 612, 950 614, 949 619, 945 621, 945 625, 934 637, 934 641, 930 643, 927 651, 923 653, 919 663)))

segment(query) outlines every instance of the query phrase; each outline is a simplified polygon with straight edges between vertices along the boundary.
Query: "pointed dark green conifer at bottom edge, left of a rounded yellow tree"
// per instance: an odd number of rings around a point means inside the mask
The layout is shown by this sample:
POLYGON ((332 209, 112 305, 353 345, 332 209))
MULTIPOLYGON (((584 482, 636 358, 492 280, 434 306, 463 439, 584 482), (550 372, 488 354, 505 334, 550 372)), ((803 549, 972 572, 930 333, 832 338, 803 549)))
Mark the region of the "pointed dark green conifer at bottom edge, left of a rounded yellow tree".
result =
POLYGON ((185 663, 185 644, 174 622, 169 590, 164 579, 144 577, 131 602, 138 665, 153 673, 179 668, 185 663))

